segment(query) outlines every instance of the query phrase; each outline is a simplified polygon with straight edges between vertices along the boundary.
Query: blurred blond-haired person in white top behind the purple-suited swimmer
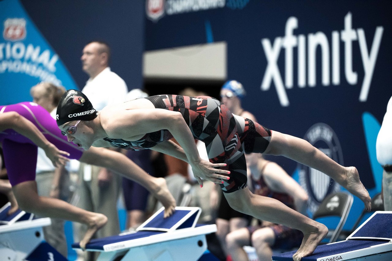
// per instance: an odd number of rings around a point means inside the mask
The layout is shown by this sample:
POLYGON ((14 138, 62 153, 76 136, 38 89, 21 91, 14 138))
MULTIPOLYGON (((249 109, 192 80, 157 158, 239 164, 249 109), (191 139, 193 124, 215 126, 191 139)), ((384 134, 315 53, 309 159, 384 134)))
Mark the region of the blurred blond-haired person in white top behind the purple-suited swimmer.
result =
MULTIPOLYGON (((65 88, 58 87, 49 82, 41 82, 30 89, 33 102, 44 107, 55 118, 57 104, 64 94, 65 88)), ((52 161, 46 156, 45 151, 38 148, 36 183, 38 195, 68 200, 69 176, 64 168, 54 167, 52 161)), ((44 227, 45 240, 56 250, 67 257, 67 240, 64 234, 64 220, 51 218, 51 225, 44 227)))

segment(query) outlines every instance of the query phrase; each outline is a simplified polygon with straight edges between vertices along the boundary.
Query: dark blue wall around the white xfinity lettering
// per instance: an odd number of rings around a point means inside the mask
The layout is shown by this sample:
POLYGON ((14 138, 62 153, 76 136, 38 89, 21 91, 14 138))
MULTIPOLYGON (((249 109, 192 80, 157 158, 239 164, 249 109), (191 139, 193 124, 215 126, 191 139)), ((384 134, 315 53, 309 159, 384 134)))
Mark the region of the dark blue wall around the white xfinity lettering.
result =
MULTIPOLYGON (((161 11, 162 16, 154 20, 147 15, 145 19, 145 38, 148 39, 145 43, 146 50, 227 42, 228 79, 236 79, 243 83, 247 91, 243 101, 245 109, 254 113, 258 121, 266 127, 300 138, 305 138, 305 134, 314 124, 327 124, 334 133, 333 142, 327 144, 316 139, 314 145, 324 151, 332 151, 335 155, 341 150, 341 157, 336 156, 334 160, 346 166, 356 166, 365 187, 372 190, 371 195, 374 194, 374 190, 381 190, 382 169, 375 159, 375 141, 388 100, 392 96, 389 83, 392 68, 392 10, 389 1, 217 0, 208 1, 217 3, 211 8, 196 4, 187 6, 188 3, 197 1, 161 2, 165 3, 162 8, 152 11, 161 11), (176 11, 173 13, 173 10, 176 11), (265 89, 261 89, 269 66, 266 46, 263 46, 262 42, 269 43, 273 48, 279 37, 284 41, 285 28, 290 17, 295 17, 298 22, 298 27, 293 30, 292 35, 297 41, 299 35, 305 37, 306 62, 299 62, 298 46, 293 47, 293 86, 289 88, 285 81, 287 49, 281 46, 276 66, 283 82, 283 92, 289 100, 287 106, 282 105, 279 100, 275 80, 265 86, 265 89), (343 33, 346 19, 351 21, 351 33, 356 38, 350 41, 352 72, 357 74, 356 83, 350 83, 346 79, 347 44, 343 41, 343 35, 347 34, 343 33), (339 36, 339 83, 332 82, 332 32, 339 36), (365 48, 360 48, 359 39, 363 39, 362 33, 365 41, 361 43, 362 46, 366 43, 365 48), (317 47, 316 84, 310 86, 306 77, 305 86, 300 87, 298 64, 305 68, 308 76, 308 36, 316 34, 322 35, 328 42, 330 82, 322 83, 321 47, 317 47), (359 95, 365 78, 362 53, 369 55, 373 49, 372 44, 377 42, 374 40, 376 34, 381 34, 381 42, 378 42, 379 48, 370 88, 366 99, 360 100, 359 95)), ((219 86, 216 88, 219 89, 219 86)), ((319 138, 322 138, 321 136, 319 138)), ((312 175, 307 173, 307 180, 301 176, 299 170, 303 166, 282 157, 275 157, 274 160, 289 174, 296 176, 301 185, 310 183, 312 175)))

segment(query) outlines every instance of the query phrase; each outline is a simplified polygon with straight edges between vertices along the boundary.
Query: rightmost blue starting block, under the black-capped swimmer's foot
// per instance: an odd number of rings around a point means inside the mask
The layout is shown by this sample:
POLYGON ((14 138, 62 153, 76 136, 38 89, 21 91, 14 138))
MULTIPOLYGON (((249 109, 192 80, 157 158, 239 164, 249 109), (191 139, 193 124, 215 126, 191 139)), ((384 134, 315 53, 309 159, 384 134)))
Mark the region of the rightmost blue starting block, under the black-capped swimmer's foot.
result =
MULTIPOLYGON (((344 241, 319 245, 303 261, 392 260, 392 211, 376 211, 344 241)), ((272 256, 273 261, 292 261, 296 251, 272 256)))

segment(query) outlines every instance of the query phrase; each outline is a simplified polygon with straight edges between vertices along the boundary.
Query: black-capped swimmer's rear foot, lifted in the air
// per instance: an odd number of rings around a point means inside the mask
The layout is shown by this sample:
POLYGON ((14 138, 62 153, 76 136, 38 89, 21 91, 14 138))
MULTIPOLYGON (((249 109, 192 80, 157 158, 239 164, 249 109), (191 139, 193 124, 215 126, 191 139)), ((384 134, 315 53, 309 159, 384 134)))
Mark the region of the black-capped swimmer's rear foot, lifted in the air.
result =
POLYGON ((356 167, 345 167, 344 175, 346 180, 342 183, 339 182, 339 184, 347 188, 347 190, 354 196, 357 196, 359 199, 361 199, 365 204, 366 210, 370 211, 372 208, 372 203, 369 192, 366 190, 361 180, 359 179, 359 174, 356 167))

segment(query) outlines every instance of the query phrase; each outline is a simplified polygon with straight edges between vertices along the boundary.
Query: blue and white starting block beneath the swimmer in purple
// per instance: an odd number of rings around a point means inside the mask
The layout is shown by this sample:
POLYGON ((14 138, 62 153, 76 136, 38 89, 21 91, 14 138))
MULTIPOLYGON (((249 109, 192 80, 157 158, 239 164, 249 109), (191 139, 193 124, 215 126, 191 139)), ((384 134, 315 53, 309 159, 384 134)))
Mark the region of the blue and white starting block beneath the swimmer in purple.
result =
MULTIPOLYGON (((176 207, 172 216, 163 218, 162 207, 136 231, 93 239, 87 251, 99 251, 97 261, 196 261, 207 250, 206 234, 216 225, 196 225, 198 207, 176 207)), ((78 243, 74 249, 80 249, 78 243)))

